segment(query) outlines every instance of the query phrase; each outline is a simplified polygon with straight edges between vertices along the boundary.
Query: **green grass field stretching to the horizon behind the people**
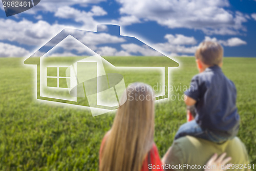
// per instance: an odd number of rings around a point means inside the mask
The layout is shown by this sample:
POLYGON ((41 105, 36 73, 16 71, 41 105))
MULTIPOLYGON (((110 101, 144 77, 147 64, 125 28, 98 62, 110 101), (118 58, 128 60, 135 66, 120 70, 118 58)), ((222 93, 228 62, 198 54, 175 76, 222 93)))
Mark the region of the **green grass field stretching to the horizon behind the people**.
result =
MULTIPOLYGON (((98 170, 98 152, 114 114, 92 117, 86 110, 35 100, 34 70, 22 58, 0 58, 0 170, 98 170)), ((195 59, 178 58, 173 86, 188 86, 195 59)), ((149 61, 150 62, 150 61, 149 61)), ((241 115, 238 137, 256 163, 256 58, 224 58, 223 71, 237 87, 241 115)), ((139 75, 138 75, 139 76, 139 75)), ((148 76, 148 81, 150 81, 148 76)), ((172 92, 182 95, 180 90, 172 92)), ((182 100, 156 103, 155 142, 160 156, 186 121, 182 100)))

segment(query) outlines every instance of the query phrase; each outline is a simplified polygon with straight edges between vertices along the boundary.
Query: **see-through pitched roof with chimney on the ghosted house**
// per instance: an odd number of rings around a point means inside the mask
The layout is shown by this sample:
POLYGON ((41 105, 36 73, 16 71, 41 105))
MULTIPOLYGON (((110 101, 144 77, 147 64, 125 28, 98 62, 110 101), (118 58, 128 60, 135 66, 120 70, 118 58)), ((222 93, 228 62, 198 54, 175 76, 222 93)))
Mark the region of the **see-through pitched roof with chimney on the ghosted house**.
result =
MULTIPOLYGON (((77 29, 64 29, 60 33, 58 33, 55 37, 53 37, 47 44, 42 46, 37 52, 35 52, 32 56, 24 61, 25 64, 28 65, 37 65, 39 64, 39 59, 45 53, 50 51, 56 45, 59 44, 63 39, 68 37, 69 35, 73 36, 77 40, 79 40, 83 45, 87 46, 90 49, 95 49, 95 45, 91 40, 84 38, 83 35, 87 33, 94 33, 97 35, 98 33, 104 33, 100 28, 102 26, 106 26, 111 33, 111 35, 121 38, 125 40, 125 42, 118 42, 116 44, 126 44, 130 42, 128 45, 138 45, 138 47, 143 47, 146 50, 154 53, 156 56, 152 56, 151 53, 144 53, 144 55, 139 56, 102 56, 105 60, 112 63, 112 65, 116 67, 178 67, 179 63, 170 59, 169 57, 163 55, 152 47, 146 45, 144 42, 138 40, 135 37, 130 36, 122 36, 120 35, 120 27, 116 25, 98 25, 97 32, 77 30, 77 29), (43 52, 43 53, 42 53, 43 52)), ((106 29, 105 29, 106 30, 106 29)), ((95 41, 100 41, 95 37, 95 41)), ((111 44, 113 45, 113 44, 111 44)), ((120 45, 119 45, 120 46, 120 45)))

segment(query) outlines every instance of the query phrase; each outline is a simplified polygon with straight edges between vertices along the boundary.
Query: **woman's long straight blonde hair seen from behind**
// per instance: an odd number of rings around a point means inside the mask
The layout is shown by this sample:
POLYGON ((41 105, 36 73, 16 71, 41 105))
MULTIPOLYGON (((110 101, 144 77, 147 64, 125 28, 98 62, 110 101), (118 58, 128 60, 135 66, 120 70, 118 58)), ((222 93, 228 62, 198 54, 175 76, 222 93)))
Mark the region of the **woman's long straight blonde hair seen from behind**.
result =
POLYGON ((123 104, 117 110, 103 145, 100 171, 141 170, 154 143, 154 92, 151 87, 133 83, 127 87, 121 101, 123 104))

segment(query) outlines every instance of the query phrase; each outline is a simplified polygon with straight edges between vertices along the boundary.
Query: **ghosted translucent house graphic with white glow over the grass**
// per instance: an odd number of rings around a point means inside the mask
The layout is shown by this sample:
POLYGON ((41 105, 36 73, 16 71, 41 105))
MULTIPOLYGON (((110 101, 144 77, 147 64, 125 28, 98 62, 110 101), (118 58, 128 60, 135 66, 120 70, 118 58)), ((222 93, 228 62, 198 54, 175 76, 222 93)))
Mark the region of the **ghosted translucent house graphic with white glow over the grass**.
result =
POLYGON ((156 100, 167 98, 168 67, 179 66, 137 38, 120 35, 120 27, 116 25, 98 25, 97 32, 64 29, 24 63, 37 66, 37 99, 88 106, 93 116, 117 109, 127 84, 147 83, 148 75, 156 79, 156 84, 159 80, 162 82, 156 100), (117 42, 104 40, 109 36, 117 42), (155 56, 144 52, 136 56, 104 56, 97 52, 93 41, 108 47, 117 47, 123 42, 136 44, 155 56), (61 52, 66 50, 79 55, 65 53, 63 56, 61 52))

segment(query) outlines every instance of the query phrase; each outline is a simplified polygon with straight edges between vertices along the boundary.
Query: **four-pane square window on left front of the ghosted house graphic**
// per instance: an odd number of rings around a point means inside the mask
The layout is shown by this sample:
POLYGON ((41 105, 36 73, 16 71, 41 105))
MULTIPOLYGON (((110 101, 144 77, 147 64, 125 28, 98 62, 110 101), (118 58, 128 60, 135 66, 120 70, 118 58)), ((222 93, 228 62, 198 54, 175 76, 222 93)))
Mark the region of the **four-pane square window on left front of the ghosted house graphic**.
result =
POLYGON ((47 87, 70 88, 70 67, 47 67, 47 87))

